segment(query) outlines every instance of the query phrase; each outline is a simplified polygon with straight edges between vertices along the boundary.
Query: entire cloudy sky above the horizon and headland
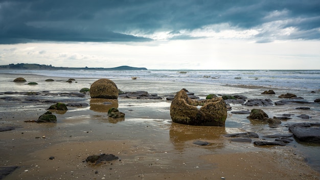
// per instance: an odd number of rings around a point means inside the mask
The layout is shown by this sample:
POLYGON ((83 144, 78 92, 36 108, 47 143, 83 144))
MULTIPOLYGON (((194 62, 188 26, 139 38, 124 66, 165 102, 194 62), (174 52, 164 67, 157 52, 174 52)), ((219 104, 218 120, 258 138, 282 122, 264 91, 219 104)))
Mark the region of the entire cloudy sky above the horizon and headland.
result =
POLYGON ((0 65, 320 70, 318 0, 0 0, 0 65))

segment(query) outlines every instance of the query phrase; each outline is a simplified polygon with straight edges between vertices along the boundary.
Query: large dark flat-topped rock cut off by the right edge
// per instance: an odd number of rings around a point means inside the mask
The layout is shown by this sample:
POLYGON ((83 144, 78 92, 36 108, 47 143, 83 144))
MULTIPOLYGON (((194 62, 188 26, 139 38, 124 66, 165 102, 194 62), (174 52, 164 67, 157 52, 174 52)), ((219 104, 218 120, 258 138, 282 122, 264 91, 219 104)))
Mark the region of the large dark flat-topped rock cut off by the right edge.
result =
POLYGON ((289 127, 294 138, 303 142, 320 143, 320 127, 289 127))

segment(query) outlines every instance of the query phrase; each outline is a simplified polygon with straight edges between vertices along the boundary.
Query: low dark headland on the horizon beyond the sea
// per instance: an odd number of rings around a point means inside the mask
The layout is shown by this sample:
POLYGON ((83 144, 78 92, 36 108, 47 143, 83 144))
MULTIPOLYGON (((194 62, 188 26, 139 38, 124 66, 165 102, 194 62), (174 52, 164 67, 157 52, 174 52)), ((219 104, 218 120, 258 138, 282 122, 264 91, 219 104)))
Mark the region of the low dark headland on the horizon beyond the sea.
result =
POLYGON ((147 70, 146 68, 135 68, 127 65, 122 65, 116 68, 66 68, 66 67, 55 67, 52 65, 44 65, 44 64, 29 64, 29 63, 17 63, 17 64, 9 64, 9 65, 0 65, 0 70, 120 70, 120 71, 128 71, 128 70, 147 70))

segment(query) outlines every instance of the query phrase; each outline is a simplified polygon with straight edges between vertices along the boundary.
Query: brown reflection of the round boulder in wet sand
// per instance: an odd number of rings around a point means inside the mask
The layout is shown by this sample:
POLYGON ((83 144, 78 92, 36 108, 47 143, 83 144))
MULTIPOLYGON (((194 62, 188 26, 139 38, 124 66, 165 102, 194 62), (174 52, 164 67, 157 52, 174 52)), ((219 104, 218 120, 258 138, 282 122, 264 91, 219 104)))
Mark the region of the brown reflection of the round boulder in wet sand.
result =
POLYGON ((90 110, 96 111, 98 113, 108 113, 108 110, 111 107, 118 108, 118 106, 119 104, 117 99, 90 99, 90 110))

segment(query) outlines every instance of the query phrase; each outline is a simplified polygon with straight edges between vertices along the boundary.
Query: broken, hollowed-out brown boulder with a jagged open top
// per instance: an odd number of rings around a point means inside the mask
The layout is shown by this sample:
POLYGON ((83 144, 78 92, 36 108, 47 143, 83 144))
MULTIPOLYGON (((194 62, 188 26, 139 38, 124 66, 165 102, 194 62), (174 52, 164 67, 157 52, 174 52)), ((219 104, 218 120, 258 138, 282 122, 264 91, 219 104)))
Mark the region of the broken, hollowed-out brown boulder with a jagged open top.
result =
POLYGON ((173 122, 180 124, 224 126, 227 109, 222 98, 195 101, 181 89, 172 100, 170 116, 173 122), (198 109, 198 105, 202 107, 198 109))

